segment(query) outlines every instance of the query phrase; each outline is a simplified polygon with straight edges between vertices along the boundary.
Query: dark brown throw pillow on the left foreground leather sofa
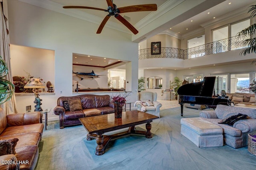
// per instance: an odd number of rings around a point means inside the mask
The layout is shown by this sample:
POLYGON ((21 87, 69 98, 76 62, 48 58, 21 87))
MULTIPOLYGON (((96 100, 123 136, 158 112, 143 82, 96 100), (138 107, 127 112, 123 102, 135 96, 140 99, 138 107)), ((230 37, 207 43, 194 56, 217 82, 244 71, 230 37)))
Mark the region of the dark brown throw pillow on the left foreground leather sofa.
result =
POLYGON ((5 154, 15 154, 15 147, 18 141, 18 138, 0 141, 0 156, 5 154))

